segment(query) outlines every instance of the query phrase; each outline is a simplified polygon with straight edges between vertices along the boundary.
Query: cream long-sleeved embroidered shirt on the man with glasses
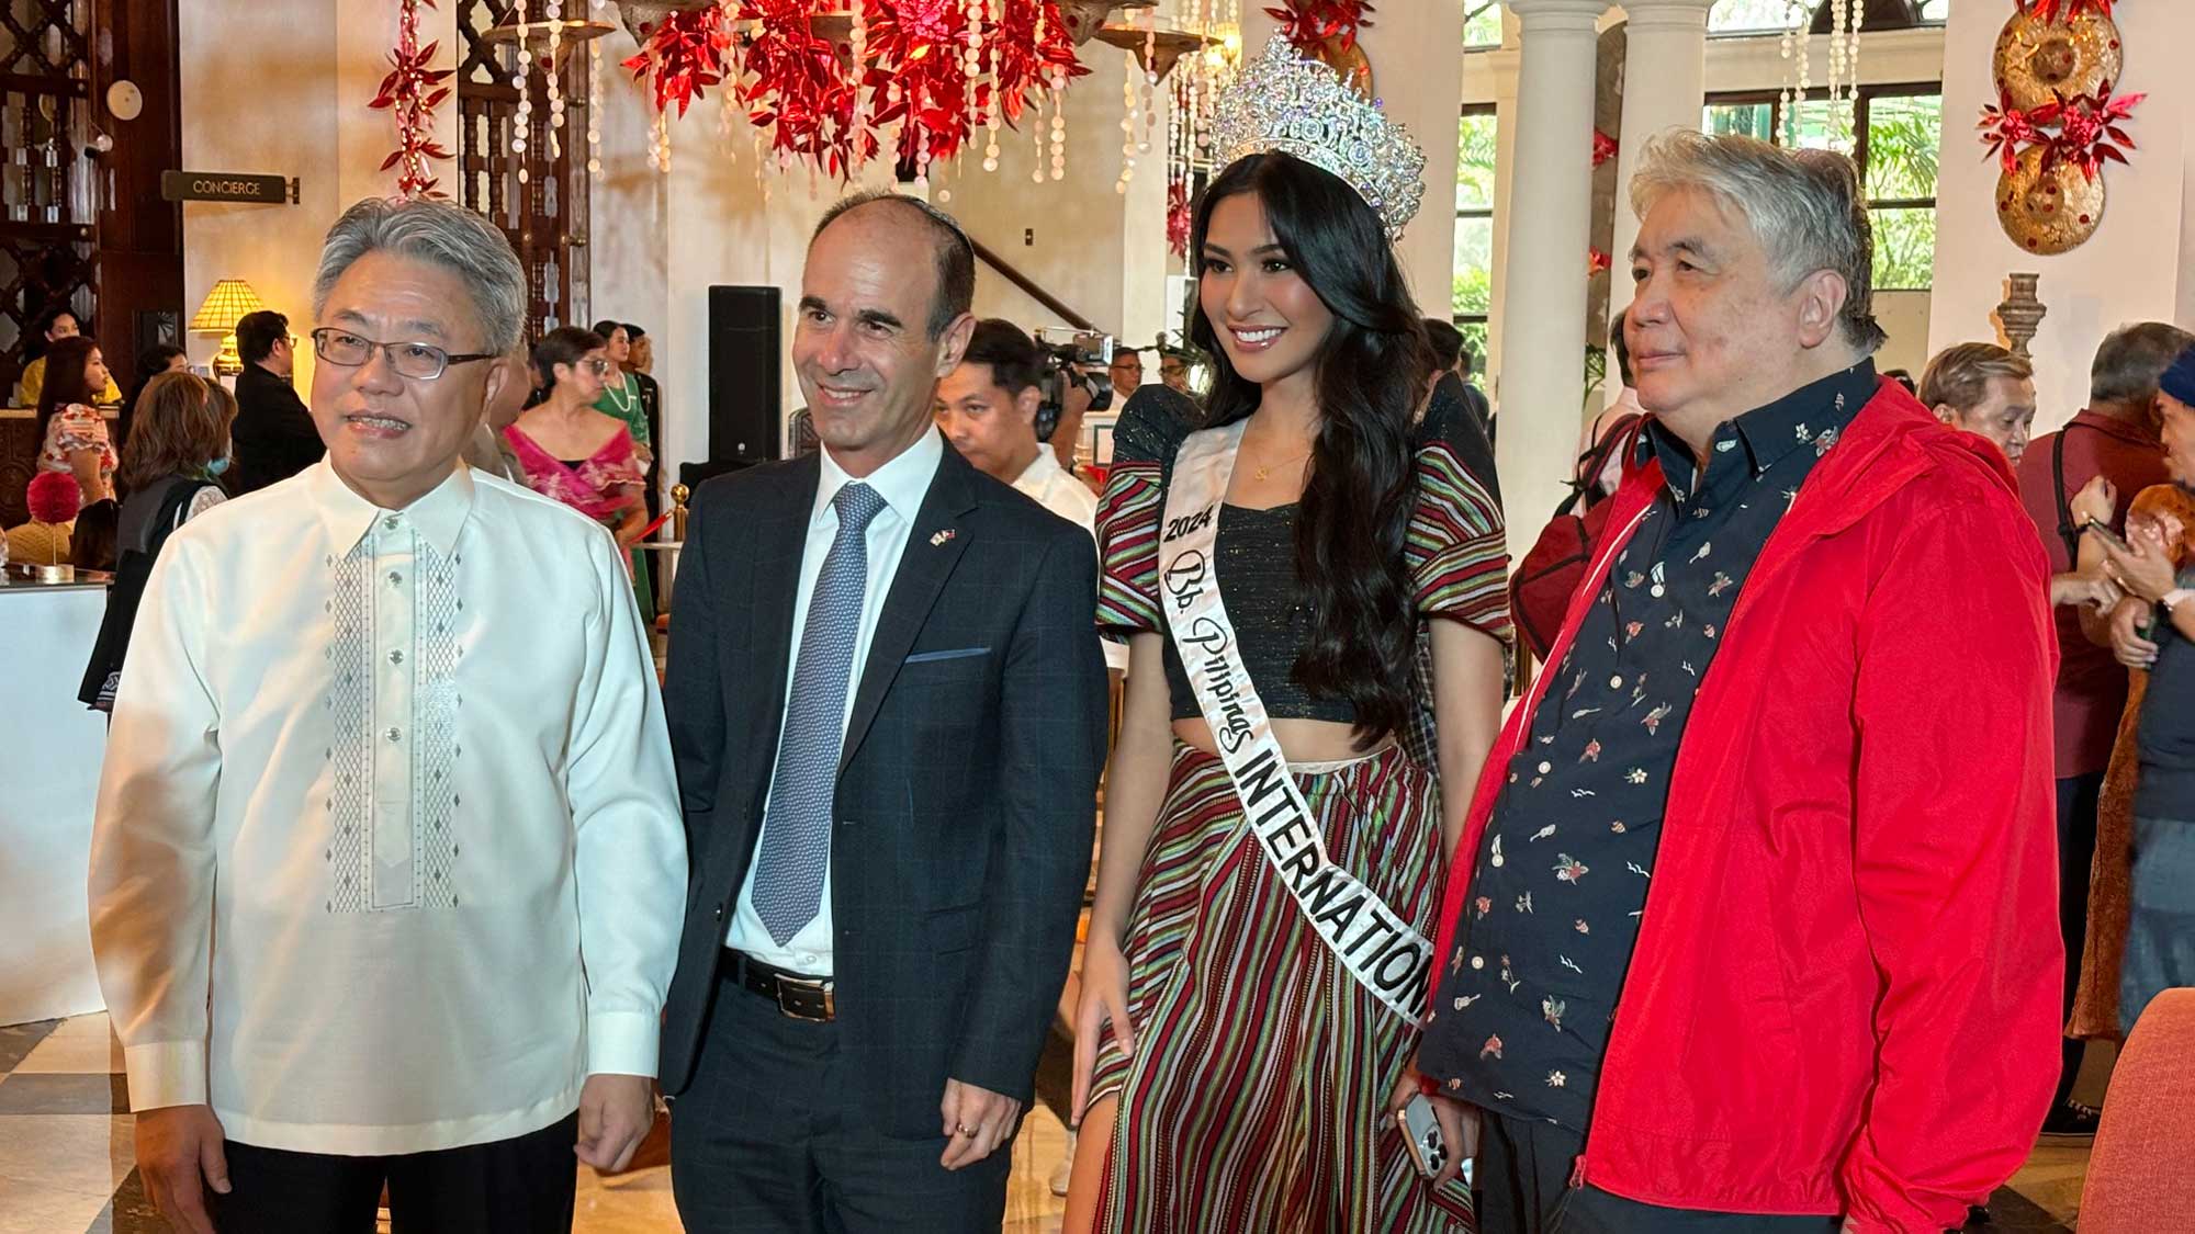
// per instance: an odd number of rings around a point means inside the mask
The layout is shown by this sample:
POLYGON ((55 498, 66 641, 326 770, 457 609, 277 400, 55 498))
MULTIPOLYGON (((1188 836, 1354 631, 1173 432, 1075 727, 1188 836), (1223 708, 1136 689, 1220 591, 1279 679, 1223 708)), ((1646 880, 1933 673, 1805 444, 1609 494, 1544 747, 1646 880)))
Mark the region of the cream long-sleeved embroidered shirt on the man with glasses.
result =
POLYGON ((338 1155, 540 1131, 654 1076, 685 887, 590 518, 468 468, 375 509, 323 459, 167 542, 92 832, 136 1109, 338 1155))

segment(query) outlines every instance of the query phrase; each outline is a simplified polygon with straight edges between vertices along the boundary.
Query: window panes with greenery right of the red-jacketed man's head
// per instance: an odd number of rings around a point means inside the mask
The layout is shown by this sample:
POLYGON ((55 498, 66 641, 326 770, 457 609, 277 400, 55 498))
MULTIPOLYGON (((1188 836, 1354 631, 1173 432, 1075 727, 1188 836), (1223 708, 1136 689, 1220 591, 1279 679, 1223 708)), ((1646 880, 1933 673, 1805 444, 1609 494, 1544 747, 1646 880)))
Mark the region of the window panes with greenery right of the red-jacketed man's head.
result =
MULTIPOLYGON (((1820 94, 1820 92, 1817 92, 1820 94)), ((1701 123, 1804 149, 1831 147, 1826 97, 1802 99, 1785 132, 1776 94, 1712 94, 1701 123)), ((1853 160, 1875 220, 1877 290, 1927 290, 1936 272, 1936 160, 1943 149, 1943 86, 1861 86, 1853 114, 1853 160)), ((1460 244, 1460 242, 1457 242, 1460 244)))

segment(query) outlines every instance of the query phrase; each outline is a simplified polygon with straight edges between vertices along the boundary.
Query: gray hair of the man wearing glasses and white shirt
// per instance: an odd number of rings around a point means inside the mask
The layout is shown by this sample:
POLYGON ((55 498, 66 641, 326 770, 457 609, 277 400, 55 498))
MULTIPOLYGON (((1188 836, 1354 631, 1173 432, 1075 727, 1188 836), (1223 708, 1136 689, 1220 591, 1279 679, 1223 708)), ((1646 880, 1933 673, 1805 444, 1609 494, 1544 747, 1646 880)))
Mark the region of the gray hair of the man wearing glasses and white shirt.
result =
POLYGON ((527 270, 511 242, 485 217, 457 202, 432 198, 367 198, 342 211, 320 246, 320 272, 312 281, 312 314, 327 312, 336 279, 367 253, 386 250, 428 266, 441 266, 465 281, 472 316, 481 325, 481 351, 509 351, 527 321, 527 270))

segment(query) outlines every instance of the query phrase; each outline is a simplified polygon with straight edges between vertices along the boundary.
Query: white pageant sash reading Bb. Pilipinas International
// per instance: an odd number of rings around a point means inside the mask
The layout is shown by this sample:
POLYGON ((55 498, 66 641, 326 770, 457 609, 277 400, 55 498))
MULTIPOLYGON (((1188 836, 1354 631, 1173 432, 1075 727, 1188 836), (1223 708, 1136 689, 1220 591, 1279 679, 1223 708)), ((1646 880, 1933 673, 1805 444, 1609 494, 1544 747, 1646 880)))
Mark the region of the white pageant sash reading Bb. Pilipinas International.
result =
POLYGON ((1247 426, 1245 419, 1207 428, 1181 444, 1159 525, 1161 608, 1264 859, 1350 977, 1416 1025, 1433 944, 1326 854, 1319 821, 1288 773, 1288 758, 1273 738, 1264 700, 1251 685, 1236 648, 1234 621, 1220 602, 1212 545, 1218 540, 1220 503, 1247 426))

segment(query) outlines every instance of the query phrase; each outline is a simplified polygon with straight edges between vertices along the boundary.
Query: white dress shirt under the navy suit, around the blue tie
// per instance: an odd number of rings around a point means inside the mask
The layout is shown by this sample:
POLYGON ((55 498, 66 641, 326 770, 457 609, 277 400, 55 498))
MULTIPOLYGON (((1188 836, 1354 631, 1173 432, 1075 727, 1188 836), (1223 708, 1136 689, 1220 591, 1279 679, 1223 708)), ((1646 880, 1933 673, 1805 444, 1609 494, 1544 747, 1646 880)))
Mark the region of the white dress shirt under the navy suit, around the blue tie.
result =
MULTIPOLYGON (((830 448, 817 450, 821 455, 823 474, 817 481, 817 501, 808 512, 808 545, 801 549, 801 586, 792 597, 792 646, 786 648, 786 694, 792 692, 792 674, 799 670, 801 661, 801 635, 808 630, 808 599, 817 591, 817 577, 823 573, 823 556, 830 553, 832 540, 838 538, 838 512, 832 507, 832 498, 838 490, 854 483, 856 476, 845 474, 845 468, 830 457, 830 448)), ((885 509, 869 518, 869 527, 863 531, 863 542, 869 549, 869 582, 860 593, 860 628, 854 635, 854 663, 847 670, 845 685, 845 714, 838 718, 838 731, 845 731, 845 722, 854 716, 854 694, 860 689, 860 670, 869 661, 869 639, 876 637, 876 619, 885 613, 885 597, 891 595, 891 577, 900 573, 900 556, 907 553, 907 536, 915 527, 915 514, 922 509, 922 498, 931 492, 931 481, 937 476, 937 463, 946 457, 946 441, 937 430, 924 433, 913 446, 900 450, 896 459, 876 468, 860 483, 876 490, 876 496, 885 498, 885 509)), ((784 742, 786 718, 777 716, 777 740, 784 742)), ((775 775, 775 762, 773 762, 775 775)), ((764 819, 768 819, 768 795, 764 795, 764 819)), ((817 907, 817 916, 799 929, 784 946, 770 938, 770 927, 762 924, 762 916, 755 911, 755 872, 762 865, 762 837, 768 832, 768 821, 755 830, 755 861, 746 863, 746 883, 740 887, 740 907, 731 916, 731 929, 724 933, 724 942, 735 946, 755 960, 770 964, 775 968, 790 968, 803 977, 830 977, 832 975, 832 913, 830 913, 830 863, 823 865, 823 900, 817 907)))

